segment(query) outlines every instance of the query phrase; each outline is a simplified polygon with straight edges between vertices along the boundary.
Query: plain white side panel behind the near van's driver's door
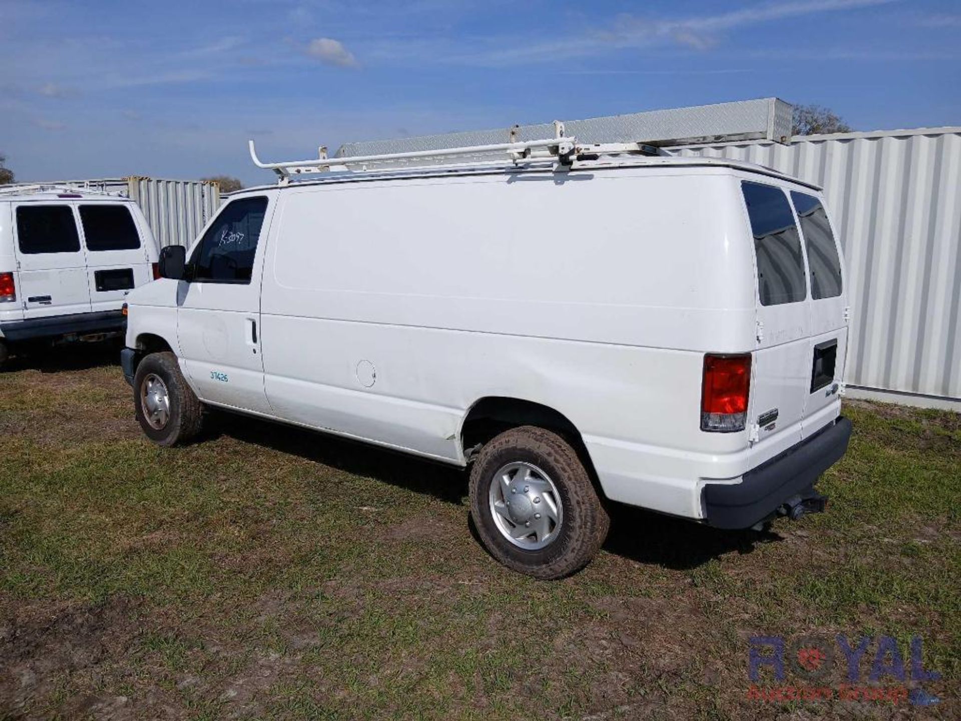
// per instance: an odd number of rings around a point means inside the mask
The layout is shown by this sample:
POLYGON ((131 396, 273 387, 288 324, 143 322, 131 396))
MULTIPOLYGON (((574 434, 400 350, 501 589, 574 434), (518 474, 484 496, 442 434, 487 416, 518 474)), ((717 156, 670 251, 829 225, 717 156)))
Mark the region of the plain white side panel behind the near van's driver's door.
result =
POLYGON ((703 354, 753 348, 738 192, 703 169, 290 188, 262 285, 271 409, 463 462, 478 399, 530 400, 579 428, 609 497, 698 517, 700 477, 747 470, 746 433, 700 430, 703 354))

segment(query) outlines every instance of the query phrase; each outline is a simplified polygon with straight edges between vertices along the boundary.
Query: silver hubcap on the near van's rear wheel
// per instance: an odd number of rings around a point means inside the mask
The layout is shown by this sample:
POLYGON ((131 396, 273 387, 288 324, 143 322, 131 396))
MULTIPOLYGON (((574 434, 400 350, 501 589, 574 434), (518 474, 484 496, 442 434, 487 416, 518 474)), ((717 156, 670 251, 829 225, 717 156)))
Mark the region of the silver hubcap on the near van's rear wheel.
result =
POLYGON ((515 546, 536 551, 557 537, 564 519, 560 493, 533 463, 507 463, 494 474, 488 498, 497 530, 515 546))

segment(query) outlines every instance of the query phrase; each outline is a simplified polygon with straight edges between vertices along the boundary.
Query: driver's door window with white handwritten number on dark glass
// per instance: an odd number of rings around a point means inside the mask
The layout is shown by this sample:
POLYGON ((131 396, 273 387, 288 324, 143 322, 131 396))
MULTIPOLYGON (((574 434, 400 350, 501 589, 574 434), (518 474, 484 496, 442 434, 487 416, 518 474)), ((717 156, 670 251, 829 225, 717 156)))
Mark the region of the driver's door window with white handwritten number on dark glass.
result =
POLYGON ((266 198, 241 198, 228 203, 194 251, 190 264, 194 281, 250 283, 266 198))

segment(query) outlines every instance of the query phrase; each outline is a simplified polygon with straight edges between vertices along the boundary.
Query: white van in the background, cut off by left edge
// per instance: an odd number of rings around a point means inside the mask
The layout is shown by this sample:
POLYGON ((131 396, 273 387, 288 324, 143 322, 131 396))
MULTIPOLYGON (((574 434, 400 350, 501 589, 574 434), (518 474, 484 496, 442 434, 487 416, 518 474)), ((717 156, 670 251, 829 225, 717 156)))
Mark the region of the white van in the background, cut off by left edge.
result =
POLYGON ((0 188, 0 364, 37 341, 120 336, 127 293, 158 248, 132 200, 69 187, 0 188))

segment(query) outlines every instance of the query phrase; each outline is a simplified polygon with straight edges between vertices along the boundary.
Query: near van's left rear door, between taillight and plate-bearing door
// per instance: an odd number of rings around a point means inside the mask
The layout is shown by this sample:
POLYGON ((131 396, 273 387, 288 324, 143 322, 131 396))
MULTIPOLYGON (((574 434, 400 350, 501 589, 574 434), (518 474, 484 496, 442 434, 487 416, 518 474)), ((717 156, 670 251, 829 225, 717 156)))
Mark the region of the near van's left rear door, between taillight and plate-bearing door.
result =
POLYGON ((801 235, 787 193, 741 184, 754 245, 755 346, 748 427, 758 462, 801 440, 811 370, 810 311, 801 235))

